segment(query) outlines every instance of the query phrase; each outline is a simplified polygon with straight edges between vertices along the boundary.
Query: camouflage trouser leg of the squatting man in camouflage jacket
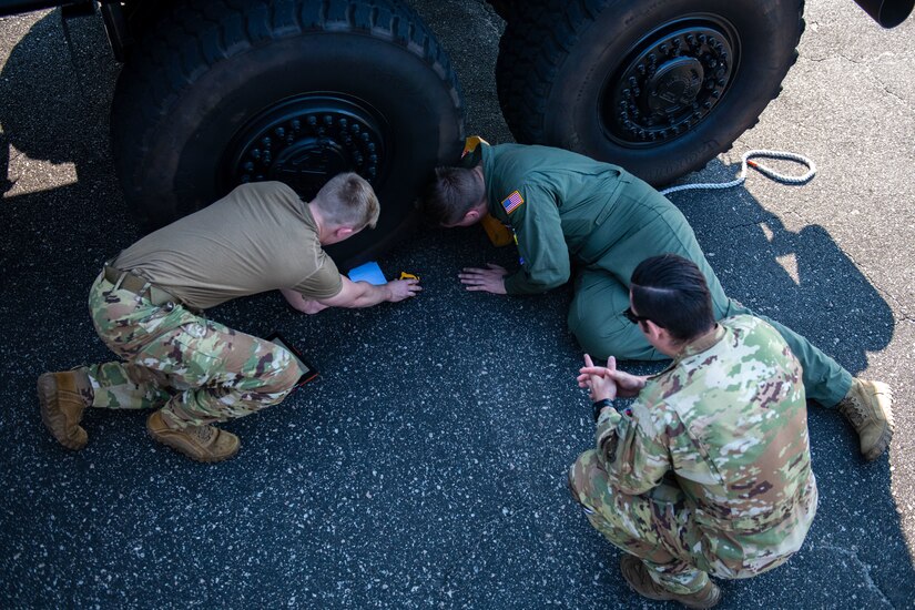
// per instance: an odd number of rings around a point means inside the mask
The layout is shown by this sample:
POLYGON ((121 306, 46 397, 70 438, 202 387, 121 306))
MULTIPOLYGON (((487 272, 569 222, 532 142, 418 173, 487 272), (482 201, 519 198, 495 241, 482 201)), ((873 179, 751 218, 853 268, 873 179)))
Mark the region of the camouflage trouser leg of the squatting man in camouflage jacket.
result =
POLYGON ((708 561, 690 552, 695 528, 679 489, 661 485, 650 495, 622 494, 610 486, 593 449, 572 465, 569 488, 594 529, 641 559, 664 589, 693 593, 709 581, 708 561))

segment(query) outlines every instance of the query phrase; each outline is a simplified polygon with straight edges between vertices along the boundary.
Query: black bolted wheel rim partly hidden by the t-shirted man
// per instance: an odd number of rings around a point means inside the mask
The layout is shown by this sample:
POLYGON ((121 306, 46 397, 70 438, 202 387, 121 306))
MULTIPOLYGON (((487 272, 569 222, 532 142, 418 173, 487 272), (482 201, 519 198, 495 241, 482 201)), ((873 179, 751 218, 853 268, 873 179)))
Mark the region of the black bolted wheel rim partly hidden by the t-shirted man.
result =
POLYGON ((277 180, 311 200, 347 171, 376 186, 387 173, 387 141, 386 122, 368 103, 339 93, 296 95, 238 130, 221 164, 221 187, 277 180))

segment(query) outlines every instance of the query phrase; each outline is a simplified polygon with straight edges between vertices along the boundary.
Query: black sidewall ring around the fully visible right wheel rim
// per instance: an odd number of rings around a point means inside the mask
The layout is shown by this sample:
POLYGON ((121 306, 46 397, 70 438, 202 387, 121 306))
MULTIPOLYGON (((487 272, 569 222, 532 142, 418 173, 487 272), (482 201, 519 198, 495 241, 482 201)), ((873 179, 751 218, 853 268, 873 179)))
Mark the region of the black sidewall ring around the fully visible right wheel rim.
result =
POLYGON ((776 94, 793 62, 799 7, 794 0, 640 0, 609 3, 565 58, 547 100, 546 139, 553 145, 610 159, 653 184, 664 184, 726 148, 776 94), (606 79, 644 33, 689 13, 721 16, 739 33, 741 58, 728 92, 688 134, 652 148, 610 140, 600 119, 606 79), (612 32, 619 35, 612 35, 612 32), (608 32, 611 35, 608 35, 608 32))

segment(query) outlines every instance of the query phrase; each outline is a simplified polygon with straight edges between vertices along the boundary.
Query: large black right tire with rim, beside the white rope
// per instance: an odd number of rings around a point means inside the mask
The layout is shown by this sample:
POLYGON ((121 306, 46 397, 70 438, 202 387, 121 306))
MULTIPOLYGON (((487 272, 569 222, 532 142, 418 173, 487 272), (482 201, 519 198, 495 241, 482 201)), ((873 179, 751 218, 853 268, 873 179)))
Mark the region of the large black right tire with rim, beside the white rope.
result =
POLYGON ((502 113, 519 142, 665 184, 756 123, 797 58, 802 12, 803 0, 533 0, 500 41, 502 113))

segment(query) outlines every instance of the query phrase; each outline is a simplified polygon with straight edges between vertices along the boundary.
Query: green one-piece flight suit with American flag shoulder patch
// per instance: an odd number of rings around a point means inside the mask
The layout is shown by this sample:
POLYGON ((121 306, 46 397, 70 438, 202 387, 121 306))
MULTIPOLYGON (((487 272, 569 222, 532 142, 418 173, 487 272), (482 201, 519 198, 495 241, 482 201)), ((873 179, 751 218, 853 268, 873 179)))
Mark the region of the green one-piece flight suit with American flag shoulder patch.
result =
POLYGON ((480 144, 464 164, 482 163, 489 213, 509 226, 520 270, 506 277, 508 294, 560 286, 576 265, 569 329, 593 357, 655 360, 667 356, 645 340, 622 312, 629 278, 658 254, 679 254, 699 265, 712 293, 715 319, 762 317, 791 346, 804 369, 807 398, 835 406, 852 375, 807 339, 729 298, 683 214, 663 195, 621 167, 548 146, 480 144))

